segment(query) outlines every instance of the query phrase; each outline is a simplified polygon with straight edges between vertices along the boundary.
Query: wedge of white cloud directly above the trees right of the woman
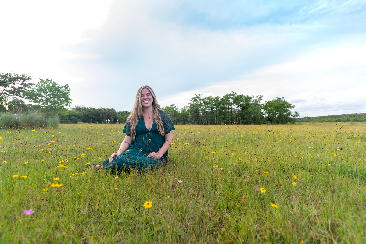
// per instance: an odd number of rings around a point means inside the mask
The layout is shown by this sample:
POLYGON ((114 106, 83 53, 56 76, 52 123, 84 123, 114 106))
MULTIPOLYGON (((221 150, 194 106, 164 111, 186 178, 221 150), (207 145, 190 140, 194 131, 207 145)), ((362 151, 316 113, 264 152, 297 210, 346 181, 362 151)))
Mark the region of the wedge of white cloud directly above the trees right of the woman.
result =
POLYGON ((282 64, 259 68, 242 80, 216 83, 163 99, 164 106, 188 104, 195 94, 223 96, 230 91, 244 95, 264 95, 264 100, 284 97, 292 101, 300 116, 366 111, 366 45, 335 45, 295 57, 282 64), (330 64, 331 63, 331 64, 330 64), (306 99, 298 99, 298 97, 306 99), (179 99, 177 99, 179 98, 179 99), (306 104, 302 103, 308 101, 306 104))

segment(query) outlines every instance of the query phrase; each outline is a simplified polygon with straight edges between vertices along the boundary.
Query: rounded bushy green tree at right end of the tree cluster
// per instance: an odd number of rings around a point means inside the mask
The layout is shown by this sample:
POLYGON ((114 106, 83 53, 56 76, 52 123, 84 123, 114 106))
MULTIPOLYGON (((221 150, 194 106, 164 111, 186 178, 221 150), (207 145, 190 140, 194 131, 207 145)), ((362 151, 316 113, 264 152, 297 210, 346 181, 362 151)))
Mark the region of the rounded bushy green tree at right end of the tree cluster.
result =
POLYGON ((295 106, 287 102, 284 98, 276 98, 271 101, 267 101, 263 109, 267 114, 268 121, 272 123, 294 123, 295 118, 299 117, 299 113, 296 111, 291 113, 291 108, 295 106))

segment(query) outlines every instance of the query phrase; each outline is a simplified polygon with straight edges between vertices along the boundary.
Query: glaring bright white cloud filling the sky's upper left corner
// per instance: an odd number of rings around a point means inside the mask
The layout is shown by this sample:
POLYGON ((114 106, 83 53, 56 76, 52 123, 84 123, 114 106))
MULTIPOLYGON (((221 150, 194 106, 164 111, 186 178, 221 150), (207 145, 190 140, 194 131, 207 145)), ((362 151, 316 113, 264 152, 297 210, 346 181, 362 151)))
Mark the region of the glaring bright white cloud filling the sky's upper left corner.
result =
POLYGON ((101 28, 112 0, 1 1, 0 72, 49 77, 59 84, 79 82, 64 68, 75 58, 70 45, 85 41, 87 30, 101 28))

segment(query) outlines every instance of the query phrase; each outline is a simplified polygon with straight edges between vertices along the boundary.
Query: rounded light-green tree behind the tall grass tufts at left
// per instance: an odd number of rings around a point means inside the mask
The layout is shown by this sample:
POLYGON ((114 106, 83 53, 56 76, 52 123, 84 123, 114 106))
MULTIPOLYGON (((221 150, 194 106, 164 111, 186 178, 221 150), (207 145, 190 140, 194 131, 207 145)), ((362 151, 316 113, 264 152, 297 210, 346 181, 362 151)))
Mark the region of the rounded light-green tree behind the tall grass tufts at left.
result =
POLYGON ((31 91, 26 92, 26 97, 45 111, 47 120, 50 112, 57 113, 64 106, 71 105, 70 91, 68 84, 57 85, 47 78, 38 81, 31 91))

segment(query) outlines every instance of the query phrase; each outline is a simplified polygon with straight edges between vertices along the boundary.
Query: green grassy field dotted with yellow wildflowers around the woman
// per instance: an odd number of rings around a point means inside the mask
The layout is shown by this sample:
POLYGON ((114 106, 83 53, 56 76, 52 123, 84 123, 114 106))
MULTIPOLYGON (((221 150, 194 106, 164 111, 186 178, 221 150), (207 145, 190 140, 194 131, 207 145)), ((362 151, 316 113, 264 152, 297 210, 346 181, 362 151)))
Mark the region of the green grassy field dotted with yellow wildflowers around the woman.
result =
POLYGON ((1 243, 366 243, 366 125, 179 125, 161 169, 86 171, 122 129, 0 130, 1 243))

